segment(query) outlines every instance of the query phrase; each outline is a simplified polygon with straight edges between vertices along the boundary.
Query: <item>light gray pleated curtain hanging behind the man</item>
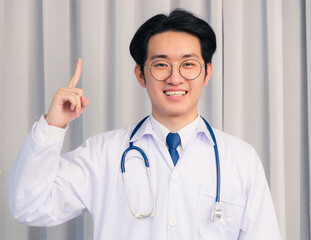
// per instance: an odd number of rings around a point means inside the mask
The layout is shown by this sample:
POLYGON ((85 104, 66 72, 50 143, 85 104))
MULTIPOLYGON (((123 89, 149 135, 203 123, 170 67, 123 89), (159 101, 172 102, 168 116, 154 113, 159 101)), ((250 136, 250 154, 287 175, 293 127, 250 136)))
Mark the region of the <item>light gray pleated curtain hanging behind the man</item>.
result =
POLYGON ((200 113, 263 162, 283 239, 310 239, 311 0, 0 0, 0 239, 92 239, 89 214, 51 228, 16 223, 10 167, 78 57, 90 106, 70 124, 63 151, 150 113, 129 42, 140 24, 173 8, 217 35, 200 113))

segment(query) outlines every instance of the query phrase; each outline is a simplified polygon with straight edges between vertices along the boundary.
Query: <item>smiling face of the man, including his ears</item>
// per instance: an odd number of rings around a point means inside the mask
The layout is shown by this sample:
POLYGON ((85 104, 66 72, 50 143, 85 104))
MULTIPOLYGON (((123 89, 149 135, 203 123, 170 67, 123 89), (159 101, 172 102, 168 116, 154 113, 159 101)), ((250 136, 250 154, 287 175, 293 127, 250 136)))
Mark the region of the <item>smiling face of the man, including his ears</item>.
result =
POLYGON ((179 65, 187 59, 204 64, 199 39, 185 32, 169 31, 150 38, 145 66, 165 60, 173 65, 171 76, 158 81, 152 77, 150 69, 145 67, 142 74, 139 66, 135 67, 136 77, 151 100, 152 115, 162 123, 172 118, 190 122, 198 116, 198 101, 211 76, 212 65, 207 65, 207 71, 203 66, 196 79, 186 80, 179 73, 179 65))

